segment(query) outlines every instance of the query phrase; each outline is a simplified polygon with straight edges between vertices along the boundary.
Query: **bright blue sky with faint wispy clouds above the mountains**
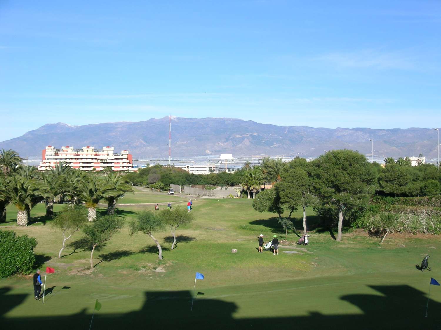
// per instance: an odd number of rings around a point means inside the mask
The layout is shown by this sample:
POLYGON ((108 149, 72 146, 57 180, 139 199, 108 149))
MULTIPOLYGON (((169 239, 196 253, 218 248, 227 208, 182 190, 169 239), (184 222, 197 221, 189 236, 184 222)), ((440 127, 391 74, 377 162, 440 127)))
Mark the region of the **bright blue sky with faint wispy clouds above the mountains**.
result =
POLYGON ((46 123, 441 126, 440 1, 0 0, 0 141, 46 123))

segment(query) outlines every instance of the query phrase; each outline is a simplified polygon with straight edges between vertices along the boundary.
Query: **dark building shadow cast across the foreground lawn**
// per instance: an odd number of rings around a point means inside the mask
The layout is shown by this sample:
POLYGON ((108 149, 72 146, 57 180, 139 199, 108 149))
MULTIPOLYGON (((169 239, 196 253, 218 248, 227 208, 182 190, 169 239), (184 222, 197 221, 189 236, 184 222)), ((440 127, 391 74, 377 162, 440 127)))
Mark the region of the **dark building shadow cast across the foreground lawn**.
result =
MULTIPOLYGON (((238 306, 218 299, 206 299, 196 295, 193 311, 190 311, 192 291, 145 292, 145 302, 138 311, 106 314, 107 302, 101 302, 100 312, 95 313, 93 329, 175 328, 175 329, 437 329, 441 321, 439 302, 430 300, 429 317, 424 317, 427 298, 425 293, 407 285, 370 286, 381 295, 351 294, 340 297, 360 310, 357 314, 324 315, 314 309, 307 315, 265 317, 269 311, 262 309, 262 317, 236 319, 238 306)), ((9 288, 0 290, 0 299, 7 301, 0 309, 0 322, 5 328, 27 329, 35 324, 46 323, 52 328, 84 329, 89 326, 91 314, 86 308, 72 315, 8 318, 4 314, 22 304, 25 295, 9 294, 9 288)), ((264 296, 265 293, 262 293, 264 296)), ((319 300, 320 297, 317 297, 319 300)), ((108 302, 110 303, 110 302, 108 302)), ((280 304, 284 302, 281 301, 280 304)), ((299 301, 301 304, 301 301, 299 301)), ((92 312, 93 301, 88 306, 92 312)), ((256 308, 262 305, 256 302, 256 308)), ((277 309, 277 306, 274 306, 277 309)), ((295 310, 295 304, 292 306, 295 310)))

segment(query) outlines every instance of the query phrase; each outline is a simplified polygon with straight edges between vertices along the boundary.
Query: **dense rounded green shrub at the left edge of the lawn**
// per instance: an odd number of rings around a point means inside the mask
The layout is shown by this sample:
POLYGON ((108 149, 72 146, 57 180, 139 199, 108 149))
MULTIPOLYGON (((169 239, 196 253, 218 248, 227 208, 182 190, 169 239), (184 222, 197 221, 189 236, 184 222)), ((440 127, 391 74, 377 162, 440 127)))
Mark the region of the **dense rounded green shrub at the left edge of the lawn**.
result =
POLYGON ((17 236, 13 231, 0 231, 0 278, 15 273, 29 274, 35 263, 37 240, 28 235, 17 236))

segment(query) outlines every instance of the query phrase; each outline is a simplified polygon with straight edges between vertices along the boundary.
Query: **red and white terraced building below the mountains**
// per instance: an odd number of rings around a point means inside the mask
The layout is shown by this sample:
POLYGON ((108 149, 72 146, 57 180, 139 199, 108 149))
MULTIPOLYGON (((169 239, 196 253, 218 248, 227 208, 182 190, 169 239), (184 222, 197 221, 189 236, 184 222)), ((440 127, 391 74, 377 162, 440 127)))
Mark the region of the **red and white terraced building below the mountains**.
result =
POLYGON ((111 167, 113 171, 137 171, 133 166, 132 155, 127 150, 121 154, 114 154, 113 147, 103 147, 96 150, 94 147, 74 147, 66 146, 61 149, 47 146, 43 150, 43 160, 38 166, 39 171, 53 169, 57 163, 64 162, 74 169, 82 171, 102 171, 106 167, 111 167))

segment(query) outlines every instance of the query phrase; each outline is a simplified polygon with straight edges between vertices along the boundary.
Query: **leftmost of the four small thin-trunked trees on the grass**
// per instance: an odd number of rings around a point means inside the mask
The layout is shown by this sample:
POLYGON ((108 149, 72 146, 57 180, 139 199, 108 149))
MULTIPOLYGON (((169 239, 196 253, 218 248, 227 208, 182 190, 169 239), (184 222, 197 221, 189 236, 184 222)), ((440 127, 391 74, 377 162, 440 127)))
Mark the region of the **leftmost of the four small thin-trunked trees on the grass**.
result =
POLYGON ((80 206, 74 208, 65 207, 63 211, 58 212, 52 221, 52 227, 63 233, 63 245, 58 253, 61 253, 66 247, 66 241, 71 238, 72 234, 79 231, 87 223, 87 215, 85 210, 80 206))

